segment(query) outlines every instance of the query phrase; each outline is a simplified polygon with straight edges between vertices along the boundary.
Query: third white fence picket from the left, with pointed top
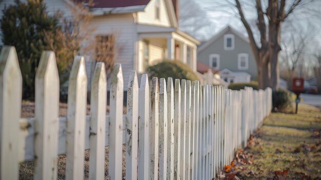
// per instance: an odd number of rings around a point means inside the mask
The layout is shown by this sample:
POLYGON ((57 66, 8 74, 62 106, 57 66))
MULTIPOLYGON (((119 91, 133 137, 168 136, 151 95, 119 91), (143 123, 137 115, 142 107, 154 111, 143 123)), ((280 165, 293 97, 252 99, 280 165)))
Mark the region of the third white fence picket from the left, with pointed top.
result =
POLYGON ((66 179, 84 177, 87 74, 84 56, 76 56, 68 87, 66 179))

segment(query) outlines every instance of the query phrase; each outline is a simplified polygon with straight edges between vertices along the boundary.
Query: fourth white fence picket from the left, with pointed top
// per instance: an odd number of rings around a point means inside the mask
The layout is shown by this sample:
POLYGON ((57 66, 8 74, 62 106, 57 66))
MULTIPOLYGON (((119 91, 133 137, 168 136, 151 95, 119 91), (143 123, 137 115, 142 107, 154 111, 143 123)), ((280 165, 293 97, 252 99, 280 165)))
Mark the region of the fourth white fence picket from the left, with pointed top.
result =
POLYGON ((90 92, 89 179, 105 177, 107 79, 104 63, 96 63, 90 92))

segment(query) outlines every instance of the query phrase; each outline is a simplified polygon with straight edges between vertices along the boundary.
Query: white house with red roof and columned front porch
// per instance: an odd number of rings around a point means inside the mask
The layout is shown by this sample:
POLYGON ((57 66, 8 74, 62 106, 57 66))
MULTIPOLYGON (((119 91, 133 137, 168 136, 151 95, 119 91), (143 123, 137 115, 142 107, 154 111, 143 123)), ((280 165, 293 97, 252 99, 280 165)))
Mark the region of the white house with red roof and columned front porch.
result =
MULTIPOLYGON (((66 16, 71 13, 69 7, 74 5, 70 0, 44 2, 49 14, 60 10, 66 16)), ((11 4, 14 1, 3 0, 0 3, 1 10, 11 4)), ((114 55, 117 51, 115 62, 122 64, 125 85, 131 70, 144 73, 148 65, 164 58, 182 61, 196 72, 199 42, 178 29, 176 0, 94 0, 94 4, 91 8, 94 16, 90 22, 90 26, 96 27, 93 48, 96 54, 114 55), (99 49, 104 51, 100 52, 99 49)))

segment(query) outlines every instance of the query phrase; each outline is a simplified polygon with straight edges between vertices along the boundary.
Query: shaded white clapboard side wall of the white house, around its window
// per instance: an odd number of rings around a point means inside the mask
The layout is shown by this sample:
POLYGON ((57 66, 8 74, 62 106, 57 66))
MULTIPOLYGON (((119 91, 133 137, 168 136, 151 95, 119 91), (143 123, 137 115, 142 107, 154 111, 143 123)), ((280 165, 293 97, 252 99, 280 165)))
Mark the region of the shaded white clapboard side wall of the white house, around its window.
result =
MULTIPOLYGON (((134 44, 136 28, 131 14, 95 16, 90 26, 95 27, 96 34, 113 34, 115 63, 121 63, 124 74, 124 85, 127 85, 129 73, 134 70, 134 44)), ((127 89, 127 86, 124 86, 127 89)))

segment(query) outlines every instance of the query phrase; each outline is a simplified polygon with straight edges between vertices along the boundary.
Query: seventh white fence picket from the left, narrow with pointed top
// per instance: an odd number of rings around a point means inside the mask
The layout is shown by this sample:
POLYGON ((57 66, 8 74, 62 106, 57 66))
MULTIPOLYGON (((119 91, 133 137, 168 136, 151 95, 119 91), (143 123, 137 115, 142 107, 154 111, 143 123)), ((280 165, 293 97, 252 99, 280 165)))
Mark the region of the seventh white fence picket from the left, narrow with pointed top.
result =
POLYGON ((147 74, 141 78, 138 106, 138 179, 147 180, 149 171, 149 84, 147 74))

